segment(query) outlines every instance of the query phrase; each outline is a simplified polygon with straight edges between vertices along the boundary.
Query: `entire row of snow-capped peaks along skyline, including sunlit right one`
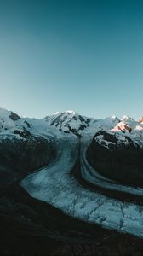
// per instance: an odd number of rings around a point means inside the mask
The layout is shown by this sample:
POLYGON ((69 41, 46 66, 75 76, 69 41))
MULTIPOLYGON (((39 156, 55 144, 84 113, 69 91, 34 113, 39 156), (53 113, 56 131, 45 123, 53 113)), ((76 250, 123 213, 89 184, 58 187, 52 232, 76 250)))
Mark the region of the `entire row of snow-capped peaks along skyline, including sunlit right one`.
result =
POLYGON ((49 134, 60 132, 63 134, 71 134, 77 137, 94 137, 98 131, 107 131, 109 133, 117 133, 117 137, 125 136, 142 137, 143 122, 142 118, 135 121, 129 116, 123 116, 118 119, 113 115, 106 119, 95 119, 85 117, 73 110, 63 113, 54 113, 54 115, 46 116, 44 119, 30 119, 20 117, 17 113, 0 108, 0 135, 15 135, 17 137, 25 137, 28 134, 49 134))

